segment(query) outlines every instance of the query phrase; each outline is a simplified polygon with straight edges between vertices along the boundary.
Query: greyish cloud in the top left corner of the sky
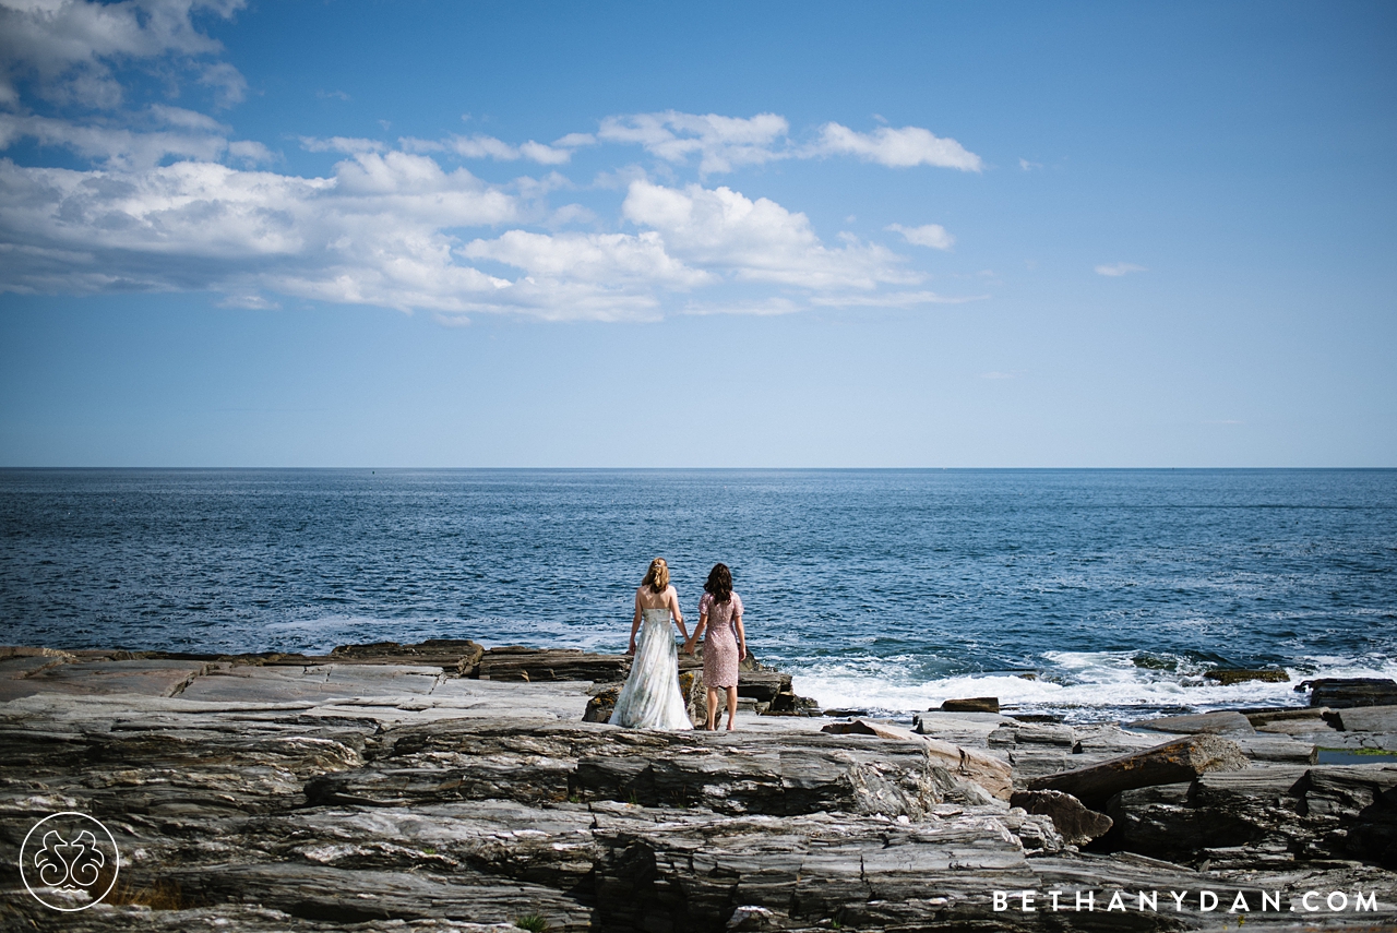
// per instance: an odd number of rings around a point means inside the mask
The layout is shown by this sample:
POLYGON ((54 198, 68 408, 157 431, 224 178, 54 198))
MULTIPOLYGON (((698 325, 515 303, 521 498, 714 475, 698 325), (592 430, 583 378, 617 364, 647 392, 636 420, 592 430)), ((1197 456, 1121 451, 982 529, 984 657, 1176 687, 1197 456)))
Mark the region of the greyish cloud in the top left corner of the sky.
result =
POLYGON ((124 98, 113 66, 159 64, 211 87, 219 105, 242 99, 246 82, 226 63, 201 61, 222 45, 200 32, 194 11, 231 17, 243 0, 0 0, 0 106, 20 103, 21 82, 59 105, 113 109, 124 98), (173 66, 173 67, 172 67, 173 66))

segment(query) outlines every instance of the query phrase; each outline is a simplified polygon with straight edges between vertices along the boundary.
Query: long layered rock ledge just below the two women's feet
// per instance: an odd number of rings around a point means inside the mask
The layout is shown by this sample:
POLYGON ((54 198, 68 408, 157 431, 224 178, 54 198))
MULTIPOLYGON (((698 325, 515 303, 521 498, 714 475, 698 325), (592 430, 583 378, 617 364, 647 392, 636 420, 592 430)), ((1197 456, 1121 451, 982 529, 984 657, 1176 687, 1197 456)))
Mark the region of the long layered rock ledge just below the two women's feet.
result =
POLYGON ((975 765, 960 749, 925 739, 803 730, 659 732, 577 722, 522 732, 506 722, 454 721, 395 729, 379 742, 386 750, 373 763, 313 781, 307 798, 330 806, 619 800, 729 814, 842 810, 922 818, 956 789, 960 771, 975 765))

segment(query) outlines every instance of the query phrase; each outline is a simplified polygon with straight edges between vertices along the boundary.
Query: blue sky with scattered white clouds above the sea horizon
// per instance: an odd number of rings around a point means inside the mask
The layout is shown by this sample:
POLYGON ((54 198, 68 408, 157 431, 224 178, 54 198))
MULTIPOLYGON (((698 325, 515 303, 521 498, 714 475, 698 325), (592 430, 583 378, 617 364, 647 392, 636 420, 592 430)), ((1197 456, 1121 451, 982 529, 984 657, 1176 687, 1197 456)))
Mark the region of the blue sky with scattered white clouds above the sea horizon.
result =
POLYGON ((0 0, 0 465, 1393 466, 1397 7, 0 0))

